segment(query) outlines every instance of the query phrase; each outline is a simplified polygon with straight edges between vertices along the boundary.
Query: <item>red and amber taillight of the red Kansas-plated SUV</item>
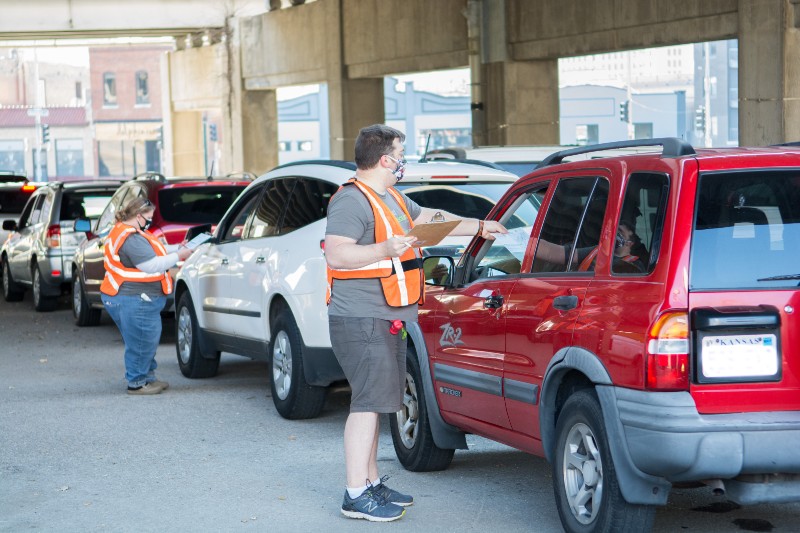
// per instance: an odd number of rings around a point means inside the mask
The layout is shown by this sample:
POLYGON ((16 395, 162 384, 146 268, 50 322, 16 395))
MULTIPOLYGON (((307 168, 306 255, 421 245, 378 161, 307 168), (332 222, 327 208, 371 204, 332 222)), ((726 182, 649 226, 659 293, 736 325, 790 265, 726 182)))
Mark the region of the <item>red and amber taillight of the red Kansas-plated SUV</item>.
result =
POLYGON ((689 388, 689 315, 686 312, 664 313, 650 326, 647 388, 689 388))

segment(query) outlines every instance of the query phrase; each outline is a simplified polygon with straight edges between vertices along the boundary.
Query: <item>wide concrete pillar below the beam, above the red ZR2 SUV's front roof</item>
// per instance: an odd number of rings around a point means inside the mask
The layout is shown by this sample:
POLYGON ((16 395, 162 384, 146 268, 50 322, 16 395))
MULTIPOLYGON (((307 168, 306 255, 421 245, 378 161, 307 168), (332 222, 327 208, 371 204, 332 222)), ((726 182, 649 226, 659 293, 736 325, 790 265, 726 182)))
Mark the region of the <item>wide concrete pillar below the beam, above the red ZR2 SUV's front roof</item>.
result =
POLYGON ((484 65, 489 145, 559 144, 558 60, 484 65))

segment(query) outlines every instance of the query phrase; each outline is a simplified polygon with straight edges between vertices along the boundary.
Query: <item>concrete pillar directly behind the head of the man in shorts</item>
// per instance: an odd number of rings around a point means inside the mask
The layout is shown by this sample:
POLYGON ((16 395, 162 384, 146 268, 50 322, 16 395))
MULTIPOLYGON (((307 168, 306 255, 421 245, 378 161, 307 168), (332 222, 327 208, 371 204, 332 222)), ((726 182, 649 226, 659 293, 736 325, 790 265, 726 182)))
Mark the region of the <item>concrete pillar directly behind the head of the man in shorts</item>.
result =
POLYGON ((352 161, 358 131, 364 126, 384 122, 383 79, 349 80, 339 77, 328 83, 328 104, 331 158, 352 161))

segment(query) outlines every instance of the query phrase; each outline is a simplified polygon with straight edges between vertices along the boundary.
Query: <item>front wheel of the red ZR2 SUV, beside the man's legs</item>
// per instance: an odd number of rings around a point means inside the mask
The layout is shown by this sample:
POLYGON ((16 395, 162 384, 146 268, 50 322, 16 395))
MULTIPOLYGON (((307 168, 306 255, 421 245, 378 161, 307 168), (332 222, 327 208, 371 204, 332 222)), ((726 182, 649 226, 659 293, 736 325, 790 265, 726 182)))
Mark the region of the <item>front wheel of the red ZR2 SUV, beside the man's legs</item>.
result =
POLYGON ((403 407, 390 417, 392 442, 397 458, 406 470, 444 470, 455 450, 439 448, 433 440, 417 352, 410 343, 406 351, 406 385, 403 407))

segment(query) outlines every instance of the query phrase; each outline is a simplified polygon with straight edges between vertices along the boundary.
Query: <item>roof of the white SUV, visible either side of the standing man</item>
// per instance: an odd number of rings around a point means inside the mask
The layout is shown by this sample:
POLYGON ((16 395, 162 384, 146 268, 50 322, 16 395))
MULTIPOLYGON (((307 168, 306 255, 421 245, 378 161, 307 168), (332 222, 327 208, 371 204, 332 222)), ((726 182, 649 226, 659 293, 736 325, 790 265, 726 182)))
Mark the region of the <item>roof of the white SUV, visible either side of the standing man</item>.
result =
MULTIPOLYGON (((353 177, 355 172, 356 165, 351 161, 294 161, 273 168, 266 174, 260 176, 258 181, 269 178, 305 175, 326 179, 332 183, 338 184, 344 183, 353 177)), ((458 179, 511 183, 516 181, 518 176, 483 162, 425 161, 409 162, 406 165, 403 183, 453 182, 458 179)))

